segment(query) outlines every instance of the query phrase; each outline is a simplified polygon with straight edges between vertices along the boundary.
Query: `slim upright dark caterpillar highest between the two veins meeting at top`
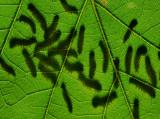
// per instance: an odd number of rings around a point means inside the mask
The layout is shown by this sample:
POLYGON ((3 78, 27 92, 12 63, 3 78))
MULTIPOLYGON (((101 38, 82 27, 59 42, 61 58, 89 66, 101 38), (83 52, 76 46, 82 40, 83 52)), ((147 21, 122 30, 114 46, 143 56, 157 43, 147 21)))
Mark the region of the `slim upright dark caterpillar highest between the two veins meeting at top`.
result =
POLYGON ((83 50, 84 32, 85 32, 85 27, 84 27, 84 25, 81 25, 80 31, 79 31, 79 36, 78 36, 78 53, 79 54, 81 54, 82 50, 83 50))

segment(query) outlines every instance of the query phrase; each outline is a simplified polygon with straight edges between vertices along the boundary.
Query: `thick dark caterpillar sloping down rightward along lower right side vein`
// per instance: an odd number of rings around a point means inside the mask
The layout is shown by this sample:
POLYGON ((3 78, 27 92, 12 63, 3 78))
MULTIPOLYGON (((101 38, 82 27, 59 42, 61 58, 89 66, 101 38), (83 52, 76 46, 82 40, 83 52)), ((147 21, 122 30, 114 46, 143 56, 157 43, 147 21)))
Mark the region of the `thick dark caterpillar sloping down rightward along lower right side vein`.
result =
POLYGON ((130 78, 129 79, 129 82, 131 84, 134 84, 135 86, 139 87, 142 91, 144 91, 145 93, 147 93, 148 95, 150 95, 152 98, 155 97, 155 90, 154 88, 140 82, 140 81, 137 81, 136 79, 134 78, 130 78))

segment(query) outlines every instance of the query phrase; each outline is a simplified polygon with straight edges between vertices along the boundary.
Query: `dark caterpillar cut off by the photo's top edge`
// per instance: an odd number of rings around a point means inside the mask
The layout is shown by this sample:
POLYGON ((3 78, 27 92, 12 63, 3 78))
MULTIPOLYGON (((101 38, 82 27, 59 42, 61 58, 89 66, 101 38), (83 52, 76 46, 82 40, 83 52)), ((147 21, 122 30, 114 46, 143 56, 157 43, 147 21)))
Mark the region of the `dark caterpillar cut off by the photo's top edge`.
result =
POLYGON ((60 0, 63 8, 67 11, 67 12, 71 12, 71 13, 76 13, 78 12, 77 8, 74 6, 71 6, 67 3, 66 0, 60 0))

